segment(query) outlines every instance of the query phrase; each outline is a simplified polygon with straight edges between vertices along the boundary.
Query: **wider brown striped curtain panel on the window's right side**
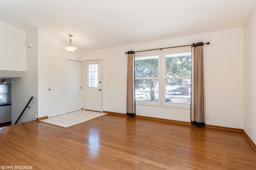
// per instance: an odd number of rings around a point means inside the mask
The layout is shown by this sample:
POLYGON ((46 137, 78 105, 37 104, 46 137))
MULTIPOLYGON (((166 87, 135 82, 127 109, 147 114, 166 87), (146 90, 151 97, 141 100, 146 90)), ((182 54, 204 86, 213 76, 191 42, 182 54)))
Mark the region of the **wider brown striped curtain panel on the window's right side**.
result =
POLYGON ((191 124, 205 126, 203 43, 192 44, 191 124))

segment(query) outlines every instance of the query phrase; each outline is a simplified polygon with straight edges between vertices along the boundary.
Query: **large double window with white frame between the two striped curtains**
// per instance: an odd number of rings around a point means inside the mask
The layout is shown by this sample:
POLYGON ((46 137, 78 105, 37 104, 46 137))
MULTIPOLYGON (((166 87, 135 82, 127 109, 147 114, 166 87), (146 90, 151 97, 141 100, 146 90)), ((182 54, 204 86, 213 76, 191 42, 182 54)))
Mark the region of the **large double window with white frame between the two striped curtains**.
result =
POLYGON ((136 53, 135 98, 148 104, 190 104, 191 50, 136 53))

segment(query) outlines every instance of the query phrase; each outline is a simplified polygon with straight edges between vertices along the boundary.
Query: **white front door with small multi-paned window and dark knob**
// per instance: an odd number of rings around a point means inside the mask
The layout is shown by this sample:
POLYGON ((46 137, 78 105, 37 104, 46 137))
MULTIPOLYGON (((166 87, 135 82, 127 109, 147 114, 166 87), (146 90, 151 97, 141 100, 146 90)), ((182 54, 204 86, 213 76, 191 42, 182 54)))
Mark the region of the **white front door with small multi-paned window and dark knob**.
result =
POLYGON ((102 111, 102 60, 85 62, 84 109, 102 111))

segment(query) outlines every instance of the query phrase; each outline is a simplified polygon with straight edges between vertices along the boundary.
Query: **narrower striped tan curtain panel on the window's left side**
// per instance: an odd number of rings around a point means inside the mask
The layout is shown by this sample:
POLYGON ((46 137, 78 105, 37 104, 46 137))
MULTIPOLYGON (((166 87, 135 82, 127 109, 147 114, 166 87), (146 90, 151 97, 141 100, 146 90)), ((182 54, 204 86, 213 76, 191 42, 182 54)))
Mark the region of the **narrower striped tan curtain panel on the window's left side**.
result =
POLYGON ((128 51, 127 69, 127 113, 128 116, 135 116, 135 77, 134 77, 134 51, 128 51))

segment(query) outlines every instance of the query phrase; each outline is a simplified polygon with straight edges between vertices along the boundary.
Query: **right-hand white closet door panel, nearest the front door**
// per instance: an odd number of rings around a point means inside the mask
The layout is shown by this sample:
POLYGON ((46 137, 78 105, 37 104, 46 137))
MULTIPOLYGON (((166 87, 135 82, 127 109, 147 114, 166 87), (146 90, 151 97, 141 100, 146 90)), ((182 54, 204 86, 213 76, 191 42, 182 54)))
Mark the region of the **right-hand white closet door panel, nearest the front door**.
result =
POLYGON ((82 62, 68 60, 68 112, 82 109, 82 62))

